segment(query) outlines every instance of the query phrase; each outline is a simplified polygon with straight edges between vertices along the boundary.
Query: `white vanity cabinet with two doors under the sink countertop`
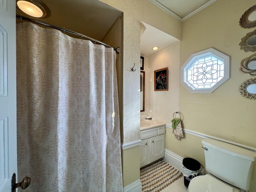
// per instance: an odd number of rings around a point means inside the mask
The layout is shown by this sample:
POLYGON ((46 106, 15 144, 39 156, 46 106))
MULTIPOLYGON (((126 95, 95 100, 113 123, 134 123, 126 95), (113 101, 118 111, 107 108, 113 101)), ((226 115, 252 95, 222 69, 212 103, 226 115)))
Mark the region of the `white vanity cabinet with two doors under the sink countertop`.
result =
POLYGON ((165 126, 140 131, 140 167, 164 157, 165 126))

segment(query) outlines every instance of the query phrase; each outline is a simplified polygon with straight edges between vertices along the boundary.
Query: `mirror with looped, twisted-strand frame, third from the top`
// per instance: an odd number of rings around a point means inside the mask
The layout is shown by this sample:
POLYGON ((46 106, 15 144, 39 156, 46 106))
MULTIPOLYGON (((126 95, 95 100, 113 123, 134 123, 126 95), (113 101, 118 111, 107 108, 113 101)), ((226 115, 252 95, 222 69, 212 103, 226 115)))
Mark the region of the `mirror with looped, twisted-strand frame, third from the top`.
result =
POLYGON ((240 72, 247 73, 250 76, 256 75, 256 54, 241 61, 240 72))

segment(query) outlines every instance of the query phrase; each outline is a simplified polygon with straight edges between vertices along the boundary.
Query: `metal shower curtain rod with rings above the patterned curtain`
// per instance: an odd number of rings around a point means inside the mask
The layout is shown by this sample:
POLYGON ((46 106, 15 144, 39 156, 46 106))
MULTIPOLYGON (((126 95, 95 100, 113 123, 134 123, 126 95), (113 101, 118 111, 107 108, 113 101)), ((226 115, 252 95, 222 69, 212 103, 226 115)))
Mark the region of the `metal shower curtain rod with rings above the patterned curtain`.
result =
MULTIPOLYGON (((35 19, 32 19, 32 18, 24 17, 22 15, 16 15, 16 18, 20 19, 21 22, 22 22, 22 20, 25 20, 25 21, 29 21, 29 22, 32 22, 32 23, 44 25, 44 26, 47 26, 47 27, 50 27, 50 28, 54 28, 54 29, 60 30, 60 31, 64 32, 64 34, 65 34, 65 32, 68 32, 70 34, 73 34, 73 35, 76 35, 76 36, 80 36, 81 38, 85 38, 85 39, 90 40, 92 42, 96 42, 98 44, 102 44, 102 45, 104 45, 106 47, 112 47, 112 46, 110 46, 108 44, 105 44, 105 43, 103 43, 101 41, 98 41, 98 40, 96 40, 94 38, 90 38, 90 37, 88 37, 86 35, 83 35, 82 33, 74 32, 74 31, 71 31, 71 30, 67 30, 65 28, 61 28, 61 27, 58 27, 58 26, 55 26, 55 25, 52 25, 52 24, 49 24, 49 23, 46 23, 46 22, 42 22, 42 21, 35 20, 35 19)), ((114 48, 114 47, 112 47, 112 48, 114 48)), ((119 47, 118 48, 114 48, 114 50, 116 51, 117 54, 120 53, 120 48, 119 47)))

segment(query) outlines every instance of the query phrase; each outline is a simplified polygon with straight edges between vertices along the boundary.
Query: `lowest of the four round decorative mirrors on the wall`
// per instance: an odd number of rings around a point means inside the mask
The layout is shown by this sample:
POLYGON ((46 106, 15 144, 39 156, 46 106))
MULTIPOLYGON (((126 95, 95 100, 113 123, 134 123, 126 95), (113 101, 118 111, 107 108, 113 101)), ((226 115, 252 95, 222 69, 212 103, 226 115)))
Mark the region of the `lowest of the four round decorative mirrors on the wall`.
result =
POLYGON ((240 94, 249 99, 256 99, 256 78, 248 79, 240 85, 240 94))

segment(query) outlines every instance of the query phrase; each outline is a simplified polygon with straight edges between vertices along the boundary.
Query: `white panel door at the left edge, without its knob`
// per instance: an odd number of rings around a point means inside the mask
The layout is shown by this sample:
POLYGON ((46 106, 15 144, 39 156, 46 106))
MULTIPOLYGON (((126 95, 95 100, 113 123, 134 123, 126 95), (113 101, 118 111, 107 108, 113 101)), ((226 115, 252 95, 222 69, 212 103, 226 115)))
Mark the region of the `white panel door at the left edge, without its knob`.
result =
POLYGON ((11 192, 17 173, 16 6, 0 0, 0 192, 11 192))

